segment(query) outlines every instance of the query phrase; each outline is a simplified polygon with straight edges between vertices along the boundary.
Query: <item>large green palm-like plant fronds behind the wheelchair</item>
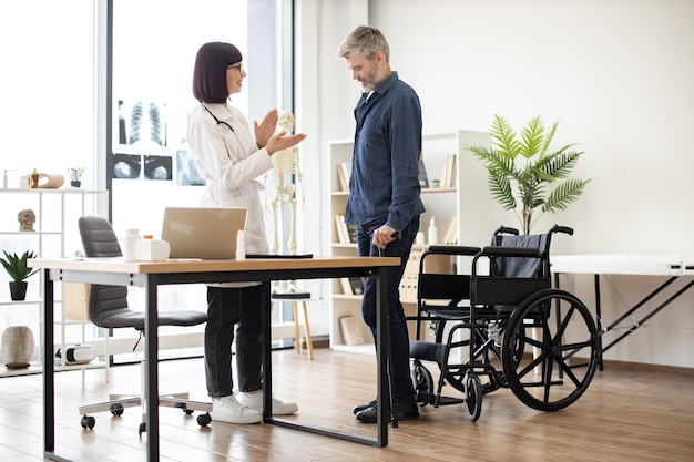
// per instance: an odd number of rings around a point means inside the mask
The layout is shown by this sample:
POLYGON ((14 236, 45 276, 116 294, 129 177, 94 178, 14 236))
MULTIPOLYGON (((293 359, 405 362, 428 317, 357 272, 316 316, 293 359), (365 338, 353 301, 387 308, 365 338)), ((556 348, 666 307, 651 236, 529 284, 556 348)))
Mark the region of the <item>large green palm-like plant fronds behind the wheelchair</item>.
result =
POLYGON ((523 234, 530 234, 542 214, 565 209, 590 182, 565 179, 583 152, 574 151, 575 144, 550 150, 558 125, 554 122, 545 132, 542 117, 537 116, 525 124, 519 137, 506 119, 494 115, 490 130, 492 146, 468 147, 487 167, 492 197, 503 209, 516 213, 523 234), (541 213, 534 214, 535 209, 541 213))

